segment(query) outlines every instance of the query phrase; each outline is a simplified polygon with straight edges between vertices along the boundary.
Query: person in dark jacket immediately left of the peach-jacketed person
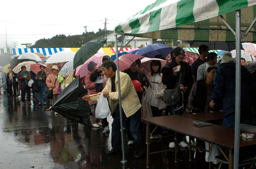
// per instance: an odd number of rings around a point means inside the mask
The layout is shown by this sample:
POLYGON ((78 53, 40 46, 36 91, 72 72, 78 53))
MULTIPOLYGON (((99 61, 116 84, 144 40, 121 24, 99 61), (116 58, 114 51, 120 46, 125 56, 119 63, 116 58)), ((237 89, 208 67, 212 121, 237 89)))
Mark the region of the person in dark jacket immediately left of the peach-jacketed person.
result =
POLYGON ((38 99, 38 105, 40 106, 42 103, 43 105, 47 104, 47 98, 46 98, 46 72, 45 67, 40 65, 40 70, 35 79, 37 80, 37 85, 39 88, 39 92, 37 93, 37 99, 38 99), (42 102, 42 99, 44 99, 44 102, 42 102))

